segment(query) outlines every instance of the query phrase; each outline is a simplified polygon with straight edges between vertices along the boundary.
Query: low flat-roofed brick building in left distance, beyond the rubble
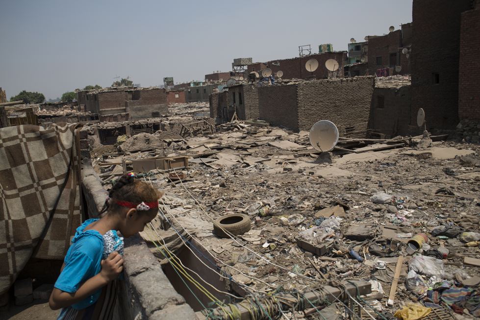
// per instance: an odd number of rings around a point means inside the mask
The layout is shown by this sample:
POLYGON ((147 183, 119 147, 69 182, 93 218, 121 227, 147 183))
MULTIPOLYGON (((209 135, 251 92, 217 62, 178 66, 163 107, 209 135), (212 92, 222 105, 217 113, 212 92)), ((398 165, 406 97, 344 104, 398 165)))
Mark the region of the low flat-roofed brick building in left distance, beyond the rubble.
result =
POLYGON ((96 90, 86 93, 84 101, 87 112, 100 115, 129 113, 130 119, 140 119, 168 114, 166 90, 159 88, 96 90))

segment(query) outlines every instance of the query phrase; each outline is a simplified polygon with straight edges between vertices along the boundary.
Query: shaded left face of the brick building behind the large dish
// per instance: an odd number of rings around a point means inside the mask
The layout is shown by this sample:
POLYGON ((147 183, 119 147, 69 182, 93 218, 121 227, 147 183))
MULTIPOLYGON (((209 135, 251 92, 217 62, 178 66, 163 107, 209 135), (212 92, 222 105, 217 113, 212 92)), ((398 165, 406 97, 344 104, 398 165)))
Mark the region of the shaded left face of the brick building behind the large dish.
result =
POLYGON ((260 87, 258 109, 260 120, 299 131, 296 84, 260 87))

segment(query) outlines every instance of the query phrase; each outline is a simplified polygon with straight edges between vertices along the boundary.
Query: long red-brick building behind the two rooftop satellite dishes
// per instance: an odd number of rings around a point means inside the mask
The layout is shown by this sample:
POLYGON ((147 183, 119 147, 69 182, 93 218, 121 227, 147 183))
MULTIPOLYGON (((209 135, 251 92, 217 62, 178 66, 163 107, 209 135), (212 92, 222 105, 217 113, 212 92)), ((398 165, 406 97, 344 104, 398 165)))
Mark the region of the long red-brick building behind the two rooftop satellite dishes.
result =
MULTIPOLYGON (((264 69, 271 69, 275 74, 278 71, 282 71, 282 79, 306 79, 312 73, 305 69, 305 64, 308 60, 315 59, 318 61, 318 68, 313 72, 317 79, 326 79, 328 77, 328 70, 325 67, 325 62, 328 59, 334 59, 340 65, 338 70, 334 72, 336 77, 342 78, 344 76, 343 62, 347 60, 346 51, 334 51, 305 55, 303 57, 295 57, 284 60, 272 60, 267 63, 257 62, 248 65, 247 72, 261 71, 264 69)), ((331 73, 330 73, 331 74, 331 73)))

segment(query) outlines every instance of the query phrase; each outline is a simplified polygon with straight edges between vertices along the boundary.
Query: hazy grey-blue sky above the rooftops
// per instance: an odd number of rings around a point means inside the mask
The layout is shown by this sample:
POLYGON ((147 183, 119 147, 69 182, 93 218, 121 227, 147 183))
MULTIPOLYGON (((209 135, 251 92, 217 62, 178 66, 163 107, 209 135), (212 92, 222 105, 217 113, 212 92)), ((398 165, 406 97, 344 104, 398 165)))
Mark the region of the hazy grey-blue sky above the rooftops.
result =
POLYGON ((47 99, 116 75, 142 87, 202 80, 254 62, 298 56, 298 47, 388 33, 412 21, 412 0, 70 1, 1 0, 0 87, 7 98, 47 99))

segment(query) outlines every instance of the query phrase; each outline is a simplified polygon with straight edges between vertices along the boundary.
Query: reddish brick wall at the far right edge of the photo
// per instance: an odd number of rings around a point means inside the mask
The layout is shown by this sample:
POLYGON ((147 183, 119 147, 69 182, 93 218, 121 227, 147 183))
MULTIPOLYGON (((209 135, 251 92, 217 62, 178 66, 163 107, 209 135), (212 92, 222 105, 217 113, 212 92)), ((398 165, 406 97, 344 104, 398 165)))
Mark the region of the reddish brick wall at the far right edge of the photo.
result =
MULTIPOLYGON (((480 2, 478 2, 480 3, 480 2)), ((480 119, 480 5, 461 14, 458 116, 480 119)))

